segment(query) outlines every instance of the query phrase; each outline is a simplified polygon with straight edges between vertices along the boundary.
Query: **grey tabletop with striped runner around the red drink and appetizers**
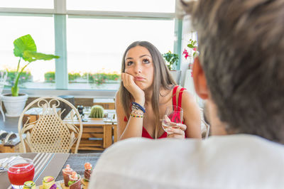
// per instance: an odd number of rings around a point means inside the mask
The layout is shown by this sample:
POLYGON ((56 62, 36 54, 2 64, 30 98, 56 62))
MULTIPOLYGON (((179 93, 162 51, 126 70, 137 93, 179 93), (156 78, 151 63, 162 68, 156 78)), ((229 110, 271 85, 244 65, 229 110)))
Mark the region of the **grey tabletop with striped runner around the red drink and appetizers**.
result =
MULTIPOLYGON (((33 159, 35 166, 35 185, 42 185, 45 176, 53 176, 56 181, 62 180, 62 168, 67 164, 80 175, 84 175, 84 163, 91 163, 94 167, 101 153, 0 153, 0 158, 21 156, 33 159)), ((0 173, 1 188, 9 188, 10 182, 7 172, 0 173)))

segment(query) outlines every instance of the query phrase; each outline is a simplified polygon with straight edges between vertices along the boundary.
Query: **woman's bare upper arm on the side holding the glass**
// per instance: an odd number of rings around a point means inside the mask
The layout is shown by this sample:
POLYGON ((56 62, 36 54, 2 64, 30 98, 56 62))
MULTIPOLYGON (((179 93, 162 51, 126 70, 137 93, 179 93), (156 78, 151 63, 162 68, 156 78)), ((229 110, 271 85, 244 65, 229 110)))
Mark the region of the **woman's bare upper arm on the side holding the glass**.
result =
POLYGON ((200 108, 193 95, 186 90, 182 92, 182 109, 187 138, 201 138, 200 108))

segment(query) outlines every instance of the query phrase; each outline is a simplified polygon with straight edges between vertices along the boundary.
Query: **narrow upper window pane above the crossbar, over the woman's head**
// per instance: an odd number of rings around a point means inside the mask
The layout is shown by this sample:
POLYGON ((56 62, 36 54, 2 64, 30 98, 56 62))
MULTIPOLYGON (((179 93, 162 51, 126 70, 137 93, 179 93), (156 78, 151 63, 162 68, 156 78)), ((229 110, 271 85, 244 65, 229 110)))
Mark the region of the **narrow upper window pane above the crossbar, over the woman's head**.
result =
POLYGON ((68 0, 68 10, 131 11, 131 12, 175 12, 175 0, 68 0))

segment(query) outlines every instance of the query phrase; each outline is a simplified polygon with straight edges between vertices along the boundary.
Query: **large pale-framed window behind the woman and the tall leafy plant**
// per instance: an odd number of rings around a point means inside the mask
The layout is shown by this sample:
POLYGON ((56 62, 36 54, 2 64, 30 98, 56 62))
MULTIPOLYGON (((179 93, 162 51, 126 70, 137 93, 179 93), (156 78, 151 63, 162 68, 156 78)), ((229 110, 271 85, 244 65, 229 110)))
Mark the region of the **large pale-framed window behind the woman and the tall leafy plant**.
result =
MULTIPOLYGON (((1 1, 0 23, 5 28, 0 69, 16 70, 19 58, 13 55, 13 41, 26 34, 31 34, 38 52, 64 56, 28 65, 22 89, 117 90, 121 58, 130 43, 150 41, 166 53, 177 51, 180 41, 175 35, 181 35, 175 0, 1 1)), ((12 83, 10 77, 6 87, 12 83)))

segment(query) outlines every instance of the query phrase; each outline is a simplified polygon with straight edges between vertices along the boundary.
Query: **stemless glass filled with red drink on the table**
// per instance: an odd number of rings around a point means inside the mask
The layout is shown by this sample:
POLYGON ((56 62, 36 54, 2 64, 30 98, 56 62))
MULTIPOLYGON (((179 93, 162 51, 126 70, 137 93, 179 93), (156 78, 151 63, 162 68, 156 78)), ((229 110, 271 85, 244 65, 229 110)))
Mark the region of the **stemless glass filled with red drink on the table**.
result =
POLYGON ((13 188, 23 188, 23 183, 33 180, 35 167, 28 158, 16 159, 9 163, 8 177, 13 188))

